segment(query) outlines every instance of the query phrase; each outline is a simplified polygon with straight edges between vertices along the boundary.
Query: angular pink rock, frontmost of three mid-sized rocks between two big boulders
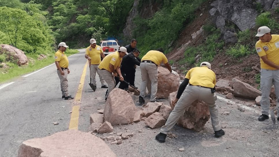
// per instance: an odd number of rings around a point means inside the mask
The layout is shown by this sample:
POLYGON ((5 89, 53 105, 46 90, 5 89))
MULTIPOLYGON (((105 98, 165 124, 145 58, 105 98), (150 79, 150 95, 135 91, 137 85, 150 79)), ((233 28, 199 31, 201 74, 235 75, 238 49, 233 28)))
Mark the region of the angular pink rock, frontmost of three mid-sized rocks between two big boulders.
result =
POLYGON ((148 118, 145 120, 145 124, 148 125, 150 128, 159 128, 166 123, 166 119, 162 116, 161 113, 155 112, 152 115, 150 115, 148 118))

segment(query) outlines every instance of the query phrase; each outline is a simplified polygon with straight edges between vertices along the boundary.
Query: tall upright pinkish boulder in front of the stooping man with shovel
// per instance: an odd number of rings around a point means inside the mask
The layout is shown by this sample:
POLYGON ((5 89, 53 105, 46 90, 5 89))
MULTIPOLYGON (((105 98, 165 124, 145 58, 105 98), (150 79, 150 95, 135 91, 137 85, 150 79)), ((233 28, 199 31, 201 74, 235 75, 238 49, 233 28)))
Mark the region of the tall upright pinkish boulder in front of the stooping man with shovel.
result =
POLYGON ((114 88, 107 98, 104 109, 104 121, 111 125, 133 123, 135 116, 135 104, 132 97, 119 88, 114 88))

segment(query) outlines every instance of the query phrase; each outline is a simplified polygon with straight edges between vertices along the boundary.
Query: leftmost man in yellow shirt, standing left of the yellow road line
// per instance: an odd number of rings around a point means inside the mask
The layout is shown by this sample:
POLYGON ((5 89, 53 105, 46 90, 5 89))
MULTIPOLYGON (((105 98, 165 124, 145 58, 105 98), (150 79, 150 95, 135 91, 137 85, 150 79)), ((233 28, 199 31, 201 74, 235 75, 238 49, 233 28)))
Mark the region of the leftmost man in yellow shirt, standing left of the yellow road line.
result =
POLYGON ((62 98, 65 100, 68 99, 73 99, 71 95, 68 93, 68 79, 67 76, 70 74, 70 70, 68 68, 69 66, 69 61, 64 53, 68 46, 66 45, 65 42, 60 42, 58 45, 58 51, 55 53, 54 58, 55 58, 55 65, 57 67, 57 74, 60 79, 60 87, 62 91, 62 98))

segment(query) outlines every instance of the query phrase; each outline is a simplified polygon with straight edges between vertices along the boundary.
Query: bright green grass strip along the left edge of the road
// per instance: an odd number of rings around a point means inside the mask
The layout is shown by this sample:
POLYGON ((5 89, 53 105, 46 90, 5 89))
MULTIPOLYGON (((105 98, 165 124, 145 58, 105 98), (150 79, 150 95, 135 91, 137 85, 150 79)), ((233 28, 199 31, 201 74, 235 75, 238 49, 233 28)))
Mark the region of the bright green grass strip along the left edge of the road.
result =
MULTIPOLYGON (((78 53, 78 50, 68 49, 66 55, 70 56, 72 54, 78 53)), ((27 58, 30 60, 29 64, 26 66, 18 66, 16 63, 6 62, 7 68, 0 68, 0 83, 4 83, 12 78, 27 74, 29 72, 36 71, 45 66, 48 66, 55 62, 54 52, 48 54, 45 59, 38 60, 38 54, 27 54, 27 58)))

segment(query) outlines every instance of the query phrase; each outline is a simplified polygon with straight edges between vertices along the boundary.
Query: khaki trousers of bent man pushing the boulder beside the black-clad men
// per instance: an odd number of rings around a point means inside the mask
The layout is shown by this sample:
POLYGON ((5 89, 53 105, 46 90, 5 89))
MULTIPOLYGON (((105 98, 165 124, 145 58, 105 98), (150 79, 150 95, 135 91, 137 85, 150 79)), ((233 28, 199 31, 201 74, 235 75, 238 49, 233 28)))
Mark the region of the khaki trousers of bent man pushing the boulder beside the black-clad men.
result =
MULTIPOLYGON (((142 73, 142 83, 140 85, 140 96, 144 98, 146 87, 151 82, 150 101, 156 100, 157 87, 158 87, 158 71, 154 63, 140 63, 140 71, 142 73)), ((148 90, 149 91, 149 90, 148 90)), ((150 92, 150 91, 149 91, 150 92)))

